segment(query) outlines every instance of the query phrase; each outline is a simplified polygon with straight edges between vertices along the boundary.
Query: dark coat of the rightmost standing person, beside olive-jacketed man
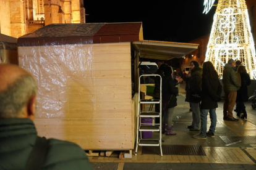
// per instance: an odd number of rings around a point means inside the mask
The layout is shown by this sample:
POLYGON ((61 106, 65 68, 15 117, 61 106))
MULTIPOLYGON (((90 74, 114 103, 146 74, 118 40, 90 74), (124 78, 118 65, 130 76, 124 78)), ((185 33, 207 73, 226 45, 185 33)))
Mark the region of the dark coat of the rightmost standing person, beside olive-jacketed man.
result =
POLYGON ((236 102, 247 102, 249 99, 247 86, 250 85, 250 76, 247 73, 240 73, 241 87, 237 91, 236 102))

